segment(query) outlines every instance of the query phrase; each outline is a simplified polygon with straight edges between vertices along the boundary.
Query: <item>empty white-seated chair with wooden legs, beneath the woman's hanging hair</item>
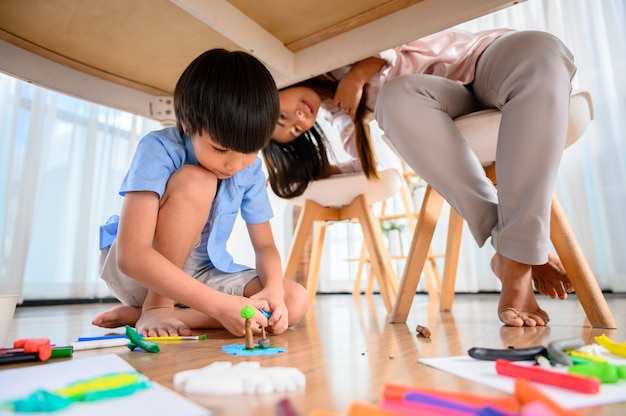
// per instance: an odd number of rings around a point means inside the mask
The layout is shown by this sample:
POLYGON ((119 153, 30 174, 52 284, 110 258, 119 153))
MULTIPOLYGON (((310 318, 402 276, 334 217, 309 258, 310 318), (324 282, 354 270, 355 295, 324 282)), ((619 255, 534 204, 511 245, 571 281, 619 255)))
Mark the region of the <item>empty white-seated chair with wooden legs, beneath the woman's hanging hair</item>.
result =
POLYGON ((372 205, 398 192, 403 179, 396 169, 383 170, 378 174, 379 180, 368 180, 362 173, 334 175, 312 182, 304 194, 289 200, 301 206, 302 210, 294 230, 285 278, 291 280, 295 278, 307 238, 309 233, 313 232, 306 279, 311 302, 315 299, 317 290, 326 226, 333 221, 351 220, 358 222, 363 230, 363 238, 370 254, 371 267, 381 297, 387 311, 391 310, 398 287, 397 276, 383 243, 380 224, 372 212, 372 205))

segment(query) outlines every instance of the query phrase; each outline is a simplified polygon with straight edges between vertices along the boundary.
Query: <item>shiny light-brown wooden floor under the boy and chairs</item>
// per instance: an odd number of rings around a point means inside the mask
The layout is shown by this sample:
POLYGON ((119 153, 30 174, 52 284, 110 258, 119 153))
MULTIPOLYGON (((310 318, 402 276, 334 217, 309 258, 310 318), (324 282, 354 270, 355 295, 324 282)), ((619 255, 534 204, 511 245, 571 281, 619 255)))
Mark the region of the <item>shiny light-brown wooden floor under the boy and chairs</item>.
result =
MULTIPOLYGON (((174 373, 201 368, 214 361, 254 360, 264 367, 296 367, 305 373, 307 386, 288 397, 301 415, 307 415, 312 409, 345 415, 353 401, 377 403, 386 382, 503 395, 418 360, 463 355, 471 347, 523 348, 579 336, 591 343, 593 336, 603 332, 614 340, 624 341, 626 295, 608 295, 607 299, 618 323, 617 330, 586 326, 575 297, 541 302, 552 318, 548 327, 505 328, 496 319, 497 295, 457 295, 452 313, 440 313, 435 302, 429 303, 426 295, 417 295, 406 324, 389 324, 382 301, 376 296, 355 300, 350 295, 318 295, 306 322, 285 334, 271 337, 273 345, 288 349, 286 353, 256 357, 227 355, 221 351, 222 345, 243 341, 226 331, 209 331, 207 341, 164 344, 158 354, 131 352, 121 347, 77 351, 73 359, 114 352, 169 388, 173 388, 174 373), (432 337, 416 336, 417 324, 430 328, 432 337)), ((110 331, 93 327, 90 321, 110 306, 19 307, 9 339, 48 337, 59 345, 75 341, 79 336, 104 335, 110 331)), ((3 366, 3 369, 12 367, 15 366, 3 366)), ((191 398, 215 415, 246 416, 276 414, 275 404, 283 397, 285 395, 272 394, 246 396, 245 400, 241 396, 191 398)), ((626 402, 580 410, 583 415, 623 415, 626 402)))

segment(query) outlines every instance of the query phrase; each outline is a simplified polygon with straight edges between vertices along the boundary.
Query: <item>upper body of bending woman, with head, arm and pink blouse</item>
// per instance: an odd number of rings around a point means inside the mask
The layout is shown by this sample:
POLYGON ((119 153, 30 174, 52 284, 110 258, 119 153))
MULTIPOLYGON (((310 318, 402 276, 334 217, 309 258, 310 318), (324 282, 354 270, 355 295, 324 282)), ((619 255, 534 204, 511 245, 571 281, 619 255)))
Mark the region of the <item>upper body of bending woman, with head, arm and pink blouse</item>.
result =
POLYGON ((380 88, 404 74, 438 75, 467 84, 477 55, 508 32, 445 30, 281 90, 278 125, 263 150, 274 192, 295 197, 309 181, 336 173, 363 171, 368 178, 376 178, 376 158, 364 120, 374 111, 380 88), (340 131, 351 160, 330 164, 328 143, 315 124, 320 107, 340 131))

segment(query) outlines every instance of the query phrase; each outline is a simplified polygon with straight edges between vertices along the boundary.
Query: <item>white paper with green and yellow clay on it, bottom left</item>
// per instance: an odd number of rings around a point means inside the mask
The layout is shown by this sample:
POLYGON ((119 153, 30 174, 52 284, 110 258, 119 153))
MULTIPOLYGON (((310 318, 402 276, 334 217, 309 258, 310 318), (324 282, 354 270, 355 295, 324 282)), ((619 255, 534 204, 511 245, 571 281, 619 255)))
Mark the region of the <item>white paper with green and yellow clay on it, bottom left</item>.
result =
MULTIPOLYGON (((38 389, 55 390, 105 374, 136 371, 124 359, 107 354, 0 371, 0 403, 24 398, 38 389)), ((0 410, 0 415, 16 413, 0 410)), ((42 413, 38 413, 42 414, 42 413)), ((55 416, 167 415, 210 416, 211 411, 151 381, 151 387, 130 396, 91 403, 73 403, 55 416)))

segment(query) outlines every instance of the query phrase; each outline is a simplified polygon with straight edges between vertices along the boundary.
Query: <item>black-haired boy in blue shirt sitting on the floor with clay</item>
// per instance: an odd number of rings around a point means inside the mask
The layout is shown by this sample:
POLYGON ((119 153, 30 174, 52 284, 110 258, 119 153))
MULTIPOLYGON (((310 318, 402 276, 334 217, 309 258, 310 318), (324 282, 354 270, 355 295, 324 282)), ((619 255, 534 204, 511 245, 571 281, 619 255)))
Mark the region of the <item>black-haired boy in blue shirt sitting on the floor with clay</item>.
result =
POLYGON ((274 80, 251 55, 212 49, 181 75, 174 110, 177 127, 145 136, 122 182, 118 231, 101 247, 100 276, 123 305, 93 324, 134 325, 146 336, 189 335, 194 328, 243 336, 239 311, 251 305, 255 332, 280 334, 304 317, 308 297, 282 278, 257 157, 278 118, 274 80), (239 211, 256 270, 226 251, 239 211))

